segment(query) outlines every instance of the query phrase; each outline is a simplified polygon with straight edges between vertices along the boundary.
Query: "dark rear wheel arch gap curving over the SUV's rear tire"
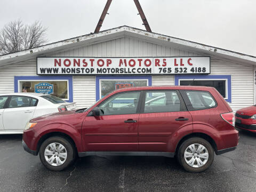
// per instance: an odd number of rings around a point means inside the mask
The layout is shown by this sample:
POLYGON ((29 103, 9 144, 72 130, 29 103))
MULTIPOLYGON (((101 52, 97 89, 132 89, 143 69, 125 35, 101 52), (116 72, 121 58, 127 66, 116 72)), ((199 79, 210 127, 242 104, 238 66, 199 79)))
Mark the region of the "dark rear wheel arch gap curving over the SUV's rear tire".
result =
POLYGON ((202 139, 205 139, 206 141, 208 141, 211 146, 213 147, 213 150, 215 151, 215 153, 217 153, 218 149, 217 149, 217 144, 216 142, 214 141, 214 139, 212 139, 209 135, 205 134, 205 133, 190 133, 188 135, 185 135, 183 138, 180 139, 180 141, 178 142, 176 148, 175 148, 175 155, 177 155, 178 151, 179 151, 179 147, 181 146, 181 144, 189 139, 189 138, 193 138, 193 137, 199 137, 199 138, 202 138, 202 139))

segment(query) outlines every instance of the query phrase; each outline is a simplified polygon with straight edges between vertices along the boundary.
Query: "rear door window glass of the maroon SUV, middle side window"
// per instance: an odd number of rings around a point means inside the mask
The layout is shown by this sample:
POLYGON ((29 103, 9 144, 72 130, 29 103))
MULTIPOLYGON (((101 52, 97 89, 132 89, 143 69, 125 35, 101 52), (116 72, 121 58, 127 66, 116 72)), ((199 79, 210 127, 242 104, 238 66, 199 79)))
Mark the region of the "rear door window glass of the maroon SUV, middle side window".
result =
POLYGON ((182 111, 176 91, 147 91, 144 113, 161 113, 182 111))

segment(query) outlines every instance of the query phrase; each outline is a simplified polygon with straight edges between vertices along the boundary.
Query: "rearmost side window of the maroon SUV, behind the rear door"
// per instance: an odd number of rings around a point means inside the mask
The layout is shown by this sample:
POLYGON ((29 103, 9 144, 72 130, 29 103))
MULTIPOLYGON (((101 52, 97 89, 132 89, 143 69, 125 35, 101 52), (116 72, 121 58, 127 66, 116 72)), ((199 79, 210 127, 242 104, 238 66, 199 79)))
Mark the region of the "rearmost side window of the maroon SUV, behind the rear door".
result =
POLYGON ((182 91, 188 110, 202 110, 217 107, 217 102, 208 91, 182 91))

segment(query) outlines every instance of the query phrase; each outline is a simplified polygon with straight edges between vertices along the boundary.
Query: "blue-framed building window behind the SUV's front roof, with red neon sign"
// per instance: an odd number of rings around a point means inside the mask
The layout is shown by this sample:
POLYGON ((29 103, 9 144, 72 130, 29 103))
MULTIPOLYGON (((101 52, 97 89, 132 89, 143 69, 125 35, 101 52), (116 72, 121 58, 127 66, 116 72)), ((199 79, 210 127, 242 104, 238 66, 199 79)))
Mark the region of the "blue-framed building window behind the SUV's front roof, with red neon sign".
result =
POLYGON ((96 100, 114 90, 151 84, 151 76, 96 76, 96 100))

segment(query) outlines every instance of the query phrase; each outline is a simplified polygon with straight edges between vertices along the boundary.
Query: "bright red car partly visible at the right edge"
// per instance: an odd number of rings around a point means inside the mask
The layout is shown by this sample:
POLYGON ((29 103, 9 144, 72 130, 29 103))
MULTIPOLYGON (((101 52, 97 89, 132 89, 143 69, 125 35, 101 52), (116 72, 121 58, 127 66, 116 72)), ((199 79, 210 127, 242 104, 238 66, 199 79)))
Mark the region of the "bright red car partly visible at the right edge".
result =
POLYGON ((256 133, 256 106, 236 111, 236 127, 256 133))

